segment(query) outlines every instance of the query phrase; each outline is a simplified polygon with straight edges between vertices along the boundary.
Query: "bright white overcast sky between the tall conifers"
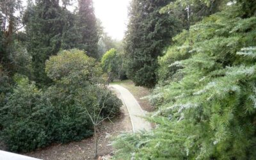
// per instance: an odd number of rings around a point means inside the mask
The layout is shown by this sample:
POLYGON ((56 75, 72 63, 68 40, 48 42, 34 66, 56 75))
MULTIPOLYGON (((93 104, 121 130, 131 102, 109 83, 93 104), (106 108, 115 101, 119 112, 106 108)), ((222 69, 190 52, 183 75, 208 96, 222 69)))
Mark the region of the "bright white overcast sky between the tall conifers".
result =
POLYGON ((93 0, 95 15, 109 36, 122 40, 128 22, 131 0, 93 0))

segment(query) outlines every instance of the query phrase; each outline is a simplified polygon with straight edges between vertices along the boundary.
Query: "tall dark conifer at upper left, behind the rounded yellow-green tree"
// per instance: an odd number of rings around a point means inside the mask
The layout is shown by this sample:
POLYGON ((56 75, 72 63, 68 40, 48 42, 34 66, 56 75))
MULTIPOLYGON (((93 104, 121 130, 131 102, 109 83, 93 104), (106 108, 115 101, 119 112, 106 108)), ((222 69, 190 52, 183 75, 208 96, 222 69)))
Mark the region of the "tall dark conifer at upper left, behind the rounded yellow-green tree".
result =
POLYGON ((63 10, 59 1, 37 0, 29 6, 24 17, 28 37, 27 49, 32 55, 33 79, 40 84, 49 84, 46 76, 45 61, 57 54, 61 47, 61 34, 65 21, 61 15, 63 10))

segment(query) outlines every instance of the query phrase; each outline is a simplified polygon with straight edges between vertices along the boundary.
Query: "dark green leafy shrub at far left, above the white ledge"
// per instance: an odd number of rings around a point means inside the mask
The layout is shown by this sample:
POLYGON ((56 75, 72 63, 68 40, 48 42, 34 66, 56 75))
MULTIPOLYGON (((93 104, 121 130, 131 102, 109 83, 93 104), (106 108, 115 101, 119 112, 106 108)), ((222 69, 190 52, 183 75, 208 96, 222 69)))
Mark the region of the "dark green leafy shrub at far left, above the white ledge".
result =
POLYGON ((28 78, 20 78, 17 83, 1 108, 2 138, 10 150, 23 152, 49 143, 47 136, 50 135, 44 126, 45 120, 49 119, 42 118, 42 115, 35 118, 40 111, 39 106, 40 109, 48 109, 41 99, 42 91, 36 88, 35 83, 30 84, 28 78))

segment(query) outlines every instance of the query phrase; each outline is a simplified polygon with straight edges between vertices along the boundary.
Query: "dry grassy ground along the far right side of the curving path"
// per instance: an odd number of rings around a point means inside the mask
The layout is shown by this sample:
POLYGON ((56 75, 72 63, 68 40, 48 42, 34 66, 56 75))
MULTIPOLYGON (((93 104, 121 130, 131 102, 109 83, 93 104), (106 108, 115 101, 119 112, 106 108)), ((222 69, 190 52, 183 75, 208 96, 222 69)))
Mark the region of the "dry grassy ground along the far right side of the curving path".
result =
POLYGON ((111 84, 119 84, 120 86, 123 86, 124 88, 129 90, 132 93, 132 95, 135 97, 135 99, 138 100, 143 110, 148 112, 154 111, 154 108, 150 106, 150 103, 148 102, 148 100, 142 99, 143 97, 150 94, 150 90, 148 88, 135 86, 131 80, 117 81, 111 84))

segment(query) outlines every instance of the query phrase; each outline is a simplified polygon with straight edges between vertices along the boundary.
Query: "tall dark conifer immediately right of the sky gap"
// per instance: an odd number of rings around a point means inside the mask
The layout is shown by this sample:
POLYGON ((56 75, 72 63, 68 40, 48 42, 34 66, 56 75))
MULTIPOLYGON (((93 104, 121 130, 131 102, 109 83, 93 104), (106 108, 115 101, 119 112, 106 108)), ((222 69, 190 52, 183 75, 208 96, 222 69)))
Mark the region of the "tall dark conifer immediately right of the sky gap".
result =
POLYGON ((179 30, 179 20, 159 10, 170 1, 138 1, 131 3, 128 31, 125 34, 125 66, 127 76, 136 85, 156 84, 157 57, 179 30))

